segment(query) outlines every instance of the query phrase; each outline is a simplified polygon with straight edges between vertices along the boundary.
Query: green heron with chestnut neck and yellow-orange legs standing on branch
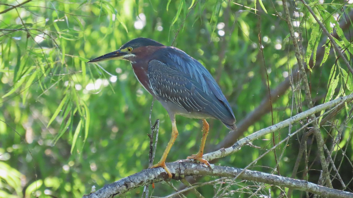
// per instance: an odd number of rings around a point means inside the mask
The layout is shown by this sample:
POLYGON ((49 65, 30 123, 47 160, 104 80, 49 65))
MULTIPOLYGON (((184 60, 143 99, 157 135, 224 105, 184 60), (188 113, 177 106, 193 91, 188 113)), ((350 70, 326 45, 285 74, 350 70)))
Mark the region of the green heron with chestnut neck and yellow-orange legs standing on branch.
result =
POLYGON ((202 158, 209 125, 205 118, 219 119, 231 130, 237 129, 231 106, 217 82, 200 62, 175 47, 148 38, 133 39, 116 51, 88 63, 127 60, 141 85, 167 110, 172 121, 172 137, 161 160, 151 168, 162 167, 172 177, 165 161, 178 136, 175 115, 203 120, 201 146, 196 155, 187 157, 205 163, 202 158))

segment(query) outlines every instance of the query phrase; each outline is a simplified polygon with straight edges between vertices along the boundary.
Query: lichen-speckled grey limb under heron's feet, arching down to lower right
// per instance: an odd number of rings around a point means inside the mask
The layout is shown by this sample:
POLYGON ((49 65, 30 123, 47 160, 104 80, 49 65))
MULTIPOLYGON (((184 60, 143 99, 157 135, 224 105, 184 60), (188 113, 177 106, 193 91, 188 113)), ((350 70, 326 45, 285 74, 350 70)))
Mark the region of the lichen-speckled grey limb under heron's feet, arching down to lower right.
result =
MULTIPOLYGON (((183 179, 186 176, 220 176, 263 182, 271 185, 279 185, 281 187, 291 187, 300 191, 307 191, 323 197, 329 198, 349 198, 353 193, 336 190, 307 182, 304 180, 285 178, 278 175, 262 173, 258 171, 244 170, 241 168, 232 168, 225 166, 215 166, 212 170, 203 165, 193 162, 181 161, 166 164, 169 170, 174 174, 174 179, 183 179), (241 173, 243 172, 243 173, 241 173), (241 173, 241 174, 239 174, 241 173)), ((119 194, 123 194, 134 188, 151 184, 152 182, 160 182, 168 179, 168 175, 163 168, 145 169, 139 173, 130 175, 112 184, 105 185, 100 190, 84 195, 83 198, 109 198, 119 194)))

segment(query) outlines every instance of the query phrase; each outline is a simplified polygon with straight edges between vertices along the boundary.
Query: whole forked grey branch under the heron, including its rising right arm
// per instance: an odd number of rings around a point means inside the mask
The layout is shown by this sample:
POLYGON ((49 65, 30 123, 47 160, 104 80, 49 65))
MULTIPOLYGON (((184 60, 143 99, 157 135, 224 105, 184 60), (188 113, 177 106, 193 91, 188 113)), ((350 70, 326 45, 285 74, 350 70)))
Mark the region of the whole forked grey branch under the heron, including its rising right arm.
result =
MULTIPOLYGON (((204 159, 210 160, 210 159, 217 159, 217 158, 232 154, 238 151, 245 144, 253 140, 256 140, 257 138, 263 135, 266 135, 275 130, 284 128, 289 124, 295 123, 314 113, 321 112, 326 109, 334 108, 338 105, 341 105, 342 103, 349 102, 351 100, 353 100, 353 94, 347 95, 345 97, 339 97, 328 103, 318 105, 316 107, 313 107, 312 109, 299 113, 298 115, 295 115, 292 118, 284 120, 283 122, 280 122, 276 125, 257 131, 251 134, 250 136, 247 136, 239 140, 232 147, 229 147, 226 149, 220 149, 213 153, 205 154, 203 157, 204 159)), ((311 182, 307 182, 303 180, 285 178, 277 175, 272 175, 272 174, 267 174, 267 173, 262 173, 257 171, 249 171, 249 170, 244 170, 239 168, 214 166, 213 169, 209 169, 208 167, 204 167, 203 165, 192 163, 189 160, 167 163, 167 166, 170 172, 174 173, 173 179, 176 179, 176 180, 183 179, 186 176, 196 176, 196 175, 198 176, 210 175, 210 176, 230 177, 230 178, 238 177, 239 179, 244 179, 244 180, 264 182, 267 184, 280 185, 283 187, 291 187, 297 190, 315 193, 324 197, 352 197, 353 196, 353 193, 335 190, 332 188, 316 185, 311 182)), ((139 186, 149 185, 153 182, 160 182, 166 179, 168 179, 168 175, 163 168, 145 169, 139 173, 130 175, 112 184, 108 184, 96 192, 93 192, 88 195, 84 195, 83 198, 108 198, 111 196, 125 193, 139 186)))

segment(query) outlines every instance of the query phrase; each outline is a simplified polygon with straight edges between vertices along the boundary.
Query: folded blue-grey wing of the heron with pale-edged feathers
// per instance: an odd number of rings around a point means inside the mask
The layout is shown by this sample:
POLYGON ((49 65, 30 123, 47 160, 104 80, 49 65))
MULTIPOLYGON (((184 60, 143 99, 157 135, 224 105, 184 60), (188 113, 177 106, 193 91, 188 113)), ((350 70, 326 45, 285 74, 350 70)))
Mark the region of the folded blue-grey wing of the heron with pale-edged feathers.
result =
POLYGON ((219 86, 214 86, 216 82, 211 74, 201 63, 199 64, 209 76, 198 72, 198 68, 194 67, 184 70, 178 63, 167 59, 169 61, 163 61, 167 64, 158 60, 151 60, 148 64, 148 77, 155 94, 162 100, 172 101, 187 112, 209 115, 220 119, 228 128, 235 129, 232 109, 219 86))

